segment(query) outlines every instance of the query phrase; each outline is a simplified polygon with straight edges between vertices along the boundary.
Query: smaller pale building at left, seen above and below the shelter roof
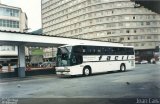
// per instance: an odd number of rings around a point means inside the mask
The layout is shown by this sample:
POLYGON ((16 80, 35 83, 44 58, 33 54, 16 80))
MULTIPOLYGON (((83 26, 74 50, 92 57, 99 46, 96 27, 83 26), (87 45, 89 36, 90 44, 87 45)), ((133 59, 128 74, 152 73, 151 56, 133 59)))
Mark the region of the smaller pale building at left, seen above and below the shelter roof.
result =
MULTIPOLYGON (((27 23, 27 15, 21 8, 0 3, 0 30, 25 32, 27 23)), ((16 62, 17 56, 17 46, 0 46, 0 64, 16 62)))

